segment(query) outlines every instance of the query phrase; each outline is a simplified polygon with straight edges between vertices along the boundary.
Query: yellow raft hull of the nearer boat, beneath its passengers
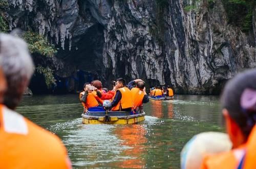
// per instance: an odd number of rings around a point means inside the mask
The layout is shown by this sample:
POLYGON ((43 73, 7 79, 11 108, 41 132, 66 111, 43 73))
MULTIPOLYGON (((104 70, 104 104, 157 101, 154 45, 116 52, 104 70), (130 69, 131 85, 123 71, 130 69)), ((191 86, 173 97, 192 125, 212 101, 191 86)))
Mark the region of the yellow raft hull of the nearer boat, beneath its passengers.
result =
POLYGON ((137 124, 145 120, 145 112, 138 113, 128 111, 89 111, 82 114, 83 124, 137 124))

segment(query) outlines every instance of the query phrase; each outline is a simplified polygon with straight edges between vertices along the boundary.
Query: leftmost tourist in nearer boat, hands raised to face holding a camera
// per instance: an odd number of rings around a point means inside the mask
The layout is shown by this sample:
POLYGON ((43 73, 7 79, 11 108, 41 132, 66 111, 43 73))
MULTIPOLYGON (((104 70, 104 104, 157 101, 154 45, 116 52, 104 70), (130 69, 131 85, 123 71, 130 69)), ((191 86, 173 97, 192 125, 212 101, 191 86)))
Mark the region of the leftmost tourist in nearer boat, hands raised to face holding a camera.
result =
POLYGON ((92 86, 90 83, 84 83, 83 89, 84 91, 80 92, 79 94, 79 99, 82 102, 84 110, 90 110, 92 107, 101 106, 97 101, 97 99, 101 96, 101 93, 97 90, 97 88, 92 86), (93 91, 96 91, 96 94, 94 94, 93 91))

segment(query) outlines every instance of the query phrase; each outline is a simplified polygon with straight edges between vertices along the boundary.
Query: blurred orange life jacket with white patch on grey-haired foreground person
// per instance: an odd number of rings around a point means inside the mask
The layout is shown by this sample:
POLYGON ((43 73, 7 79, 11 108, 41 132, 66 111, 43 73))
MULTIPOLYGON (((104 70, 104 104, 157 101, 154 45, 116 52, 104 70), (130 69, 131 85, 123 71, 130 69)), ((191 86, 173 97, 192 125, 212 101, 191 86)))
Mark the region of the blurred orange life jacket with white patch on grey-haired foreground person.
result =
POLYGON ((1 168, 71 168, 65 146, 49 131, 0 105, 1 168))

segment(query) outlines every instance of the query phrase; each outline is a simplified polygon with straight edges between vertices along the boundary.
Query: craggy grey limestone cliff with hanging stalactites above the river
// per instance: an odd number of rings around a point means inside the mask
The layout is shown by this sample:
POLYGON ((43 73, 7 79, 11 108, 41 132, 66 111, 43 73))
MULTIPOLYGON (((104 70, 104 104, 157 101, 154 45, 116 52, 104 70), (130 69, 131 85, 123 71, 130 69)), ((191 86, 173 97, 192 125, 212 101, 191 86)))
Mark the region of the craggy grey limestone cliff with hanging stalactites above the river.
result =
POLYGON ((32 28, 59 47, 51 64, 69 90, 123 77, 178 93, 219 93, 232 76, 256 66, 256 8, 252 29, 243 33, 228 23, 220 0, 211 7, 202 0, 189 12, 190 0, 8 2, 10 30, 32 28))

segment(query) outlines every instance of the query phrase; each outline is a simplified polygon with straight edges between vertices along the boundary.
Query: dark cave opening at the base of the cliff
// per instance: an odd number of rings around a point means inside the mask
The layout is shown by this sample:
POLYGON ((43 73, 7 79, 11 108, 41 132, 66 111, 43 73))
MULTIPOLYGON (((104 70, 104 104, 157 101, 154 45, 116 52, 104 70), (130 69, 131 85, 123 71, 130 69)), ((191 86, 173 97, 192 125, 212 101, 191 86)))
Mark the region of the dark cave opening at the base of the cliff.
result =
MULTIPOLYGON (((74 38, 71 51, 66 39, 65 50, 58 50, 56 57, 65 64, 61 70, 54 70, 56 85, 48 88, 44 76, 35 73, 29 85, 34 94, 74 93, 83 89, 83 84, 92 80, 103 80, 103 27, 99 24, 88 28, 83 36, 74 38)), ((60 46, 58 46, 61 49, 60 46)))

